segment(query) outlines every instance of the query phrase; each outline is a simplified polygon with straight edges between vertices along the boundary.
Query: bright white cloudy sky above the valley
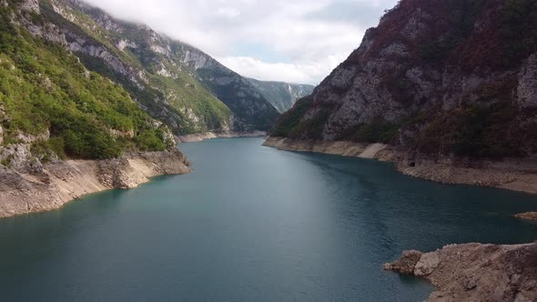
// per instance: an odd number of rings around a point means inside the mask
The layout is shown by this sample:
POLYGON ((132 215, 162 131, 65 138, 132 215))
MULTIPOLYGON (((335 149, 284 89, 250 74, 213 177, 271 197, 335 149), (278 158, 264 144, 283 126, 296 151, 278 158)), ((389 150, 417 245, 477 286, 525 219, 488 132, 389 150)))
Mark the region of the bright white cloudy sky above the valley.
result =
POLYGON ((319 84, 397 0, 86 0, 243 76, 319 84))

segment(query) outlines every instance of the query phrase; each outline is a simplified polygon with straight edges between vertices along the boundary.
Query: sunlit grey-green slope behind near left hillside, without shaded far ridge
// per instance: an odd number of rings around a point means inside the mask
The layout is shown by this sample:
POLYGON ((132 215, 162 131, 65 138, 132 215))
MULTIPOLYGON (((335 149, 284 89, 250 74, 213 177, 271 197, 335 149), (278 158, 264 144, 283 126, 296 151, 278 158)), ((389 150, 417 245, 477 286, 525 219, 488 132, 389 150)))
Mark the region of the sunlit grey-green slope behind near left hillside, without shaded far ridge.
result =
POLYGON ((167 55, 167 41, 145 25, 114 19, 76 0, 41 0, 46 20, 86 67, 129 91, 176 134, 228 130, 227 106, 167 55))

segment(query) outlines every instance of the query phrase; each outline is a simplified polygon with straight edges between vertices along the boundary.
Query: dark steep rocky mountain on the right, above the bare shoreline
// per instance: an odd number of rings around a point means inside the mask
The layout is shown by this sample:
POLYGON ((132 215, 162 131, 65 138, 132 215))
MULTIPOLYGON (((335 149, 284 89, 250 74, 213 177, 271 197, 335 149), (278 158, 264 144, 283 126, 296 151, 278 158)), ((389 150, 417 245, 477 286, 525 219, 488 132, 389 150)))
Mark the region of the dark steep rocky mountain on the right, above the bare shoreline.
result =
POLYGON ((537 2, 401 0, 272 135, 532 156, 536 114, 537 2))

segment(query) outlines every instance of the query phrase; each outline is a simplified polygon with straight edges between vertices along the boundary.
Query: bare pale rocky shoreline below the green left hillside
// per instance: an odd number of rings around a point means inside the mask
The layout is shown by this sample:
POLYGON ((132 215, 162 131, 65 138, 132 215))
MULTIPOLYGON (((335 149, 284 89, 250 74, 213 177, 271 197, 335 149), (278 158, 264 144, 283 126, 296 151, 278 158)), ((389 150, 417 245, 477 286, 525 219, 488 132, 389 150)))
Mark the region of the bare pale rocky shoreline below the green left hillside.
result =
POLYGON ((38 172, 0 166, 0 218, 54 210, 87 194, 134 188, 150 177, 189 172, 186 157, 177 149, 110 160, 58 160, 38 172))

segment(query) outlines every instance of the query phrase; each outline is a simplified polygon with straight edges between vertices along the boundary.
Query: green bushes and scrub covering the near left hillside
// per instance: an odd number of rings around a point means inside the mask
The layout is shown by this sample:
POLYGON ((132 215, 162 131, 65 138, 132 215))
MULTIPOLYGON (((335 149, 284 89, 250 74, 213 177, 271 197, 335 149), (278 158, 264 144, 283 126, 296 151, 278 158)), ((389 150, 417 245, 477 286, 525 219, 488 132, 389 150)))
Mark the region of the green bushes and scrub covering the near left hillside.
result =
MULTIPOLYGON (((15 3, 0 8, 0 104, 4 144, 44 136, 37 153, 111 158, 130 150, 164 150, 165 129, 153 126, 121 86, 87 72, 61 45, 34 38, 13 25, 15 3)), ((35 23, 41 15, 31 15, 35 23)))

